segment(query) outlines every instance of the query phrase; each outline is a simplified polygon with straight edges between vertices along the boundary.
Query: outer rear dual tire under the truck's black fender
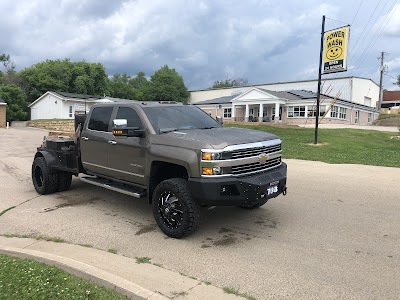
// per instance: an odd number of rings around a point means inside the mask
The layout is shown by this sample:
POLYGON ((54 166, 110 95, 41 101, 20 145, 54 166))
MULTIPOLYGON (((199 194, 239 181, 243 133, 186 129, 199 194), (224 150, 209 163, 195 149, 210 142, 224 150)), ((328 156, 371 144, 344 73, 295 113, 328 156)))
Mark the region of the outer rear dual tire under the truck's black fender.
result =
POLYGON ((58 173, 50 173, 44 157, 36 157, 32 163, 32 182, 42 195, 52 194, 58 188, 58 173))

